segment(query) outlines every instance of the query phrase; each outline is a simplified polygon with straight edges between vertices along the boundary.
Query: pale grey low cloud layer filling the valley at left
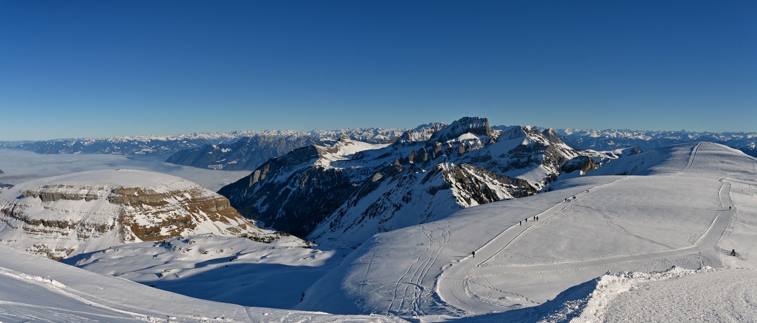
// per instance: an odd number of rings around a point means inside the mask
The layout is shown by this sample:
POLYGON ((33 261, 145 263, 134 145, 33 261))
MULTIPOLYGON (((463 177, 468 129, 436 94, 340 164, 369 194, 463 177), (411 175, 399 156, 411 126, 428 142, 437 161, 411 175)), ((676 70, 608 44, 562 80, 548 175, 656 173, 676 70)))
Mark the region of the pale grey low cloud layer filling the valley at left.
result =
POLYGON ((218 191, 223 185, 249 175, 249 171, 199 169, 164 163, 168 156, 135 157, 106 154, 36 154, 0 149, 0 183, 16 185, 33 179, 101 169, 139 169, 179 176, 218 191))

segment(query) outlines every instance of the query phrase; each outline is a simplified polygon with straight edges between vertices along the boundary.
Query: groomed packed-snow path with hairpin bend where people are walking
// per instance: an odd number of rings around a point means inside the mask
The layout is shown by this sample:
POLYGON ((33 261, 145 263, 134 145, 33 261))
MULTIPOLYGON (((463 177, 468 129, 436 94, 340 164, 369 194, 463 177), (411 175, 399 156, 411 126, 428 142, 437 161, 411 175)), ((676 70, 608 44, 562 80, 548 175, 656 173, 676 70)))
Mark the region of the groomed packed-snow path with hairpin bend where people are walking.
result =
MULTIPOLYGON (((686 172, 694 163, 696 159, 696 151, 702 143, 697 144, 691 151, 687 166, 681 170, 672 174, 671 176, 681 175, 686 172)), ((490 259, 497 254, 506 250, 525 234, 531 231, 537 230, 544 225, 549 225, 554 219, 558 219, 564 216, 566 213, 572 211, 578 203, 587 200, 592 196, 594 192, 600 191, 603 188, 612 187, 615 185, 621 185, 626 179, 631 176, 618 179, 615 182, 611 182, 606 185, 600 185, 595 188, 591 188, 589 193, 583 193, 576 195, 575 200, 570 200, 569 203, 559 203, 554 207, 538 214, 538 222, 528 221, 522 222, 522 225, 512 225, 502 233, 497 235, 496 238, 484 244, 483 247, 475 250, 477 257, 466 257, 454 266, 450 266, 449 269, 444 270, 438 280, 438 294, 442 300, 449 303, 458 309, 463 309, 466 312, 472 313, 485 313, 485 312, 500 312, 503 310, 512 309, 506 306, 501 306, 497 303, 490 303, 481 300, 479 297, 472 297, 471 293, 471 281, 472 278, 479 278, 484 275, 501 275, 505 273, 516 272, 561 272, 574 269, 584 269, 591 267, 606 266, 608 264, 623 263, 623 262, 638 262, 643 260, 662 259, 674 256, 685 256, 689 254, 696 254, 701 257, 703 266, 722 267, 721 260, 717 253, 715 253, 715 244, 723 235, 727 228, 728 222, 731 222, 732 217, 736 213, 736 210, 728 210, 728 207, 733 207, 731 203, 731 197, 729 196, 729 190, 731 183, 725 181, 727 175, 721 177, 722 185, 719 191, 719 197, 721 200, 721 210, 718 210, 717 214, 707 231, 696 241, 691 247, 678 248, 673 250, 653 250, 639 253, 622 253, 608 256, 598 256, 586 259, 571 259, 556 262, 543 262, 543 263, 531 263, 531 264, 517 264, 517 265, 505 265, 505 266, 492 266, 488 265, 490 259), (701 255, 699 255, 701 252, 701 255)), ((533 219, 530 217, 529 219, 533 219)))

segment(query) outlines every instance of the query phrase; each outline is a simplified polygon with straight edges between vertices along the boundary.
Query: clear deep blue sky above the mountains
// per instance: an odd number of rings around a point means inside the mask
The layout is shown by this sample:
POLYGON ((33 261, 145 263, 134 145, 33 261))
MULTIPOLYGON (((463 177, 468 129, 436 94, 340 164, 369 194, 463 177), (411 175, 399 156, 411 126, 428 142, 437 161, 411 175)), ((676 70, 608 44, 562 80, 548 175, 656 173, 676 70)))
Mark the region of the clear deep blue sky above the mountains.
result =
POLYGON ((757 2, 0 2, 0 140, 757 131, 757 2))

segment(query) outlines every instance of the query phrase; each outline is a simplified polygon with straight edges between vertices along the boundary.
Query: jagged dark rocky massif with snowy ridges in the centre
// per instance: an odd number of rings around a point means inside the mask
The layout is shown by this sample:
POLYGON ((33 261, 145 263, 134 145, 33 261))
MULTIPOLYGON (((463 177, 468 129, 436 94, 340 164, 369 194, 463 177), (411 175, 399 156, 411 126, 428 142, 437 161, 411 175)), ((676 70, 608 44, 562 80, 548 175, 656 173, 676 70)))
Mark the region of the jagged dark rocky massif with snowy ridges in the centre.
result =
POLYGON ((332 147, 295 149, 219 193, 266 226, 349 245, 459 208, 536 194, 569 160, 589 154, 551 129, 489 127, 478 117, 364 144, 342 137, 332 147))

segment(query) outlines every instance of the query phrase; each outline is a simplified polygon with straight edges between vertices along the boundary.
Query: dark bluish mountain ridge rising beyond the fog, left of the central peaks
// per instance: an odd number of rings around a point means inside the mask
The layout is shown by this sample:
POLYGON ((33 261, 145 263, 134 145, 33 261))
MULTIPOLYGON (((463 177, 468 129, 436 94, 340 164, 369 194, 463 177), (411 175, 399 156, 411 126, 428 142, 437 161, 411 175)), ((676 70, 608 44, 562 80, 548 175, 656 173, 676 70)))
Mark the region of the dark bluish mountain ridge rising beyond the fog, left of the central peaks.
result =
POLYGON ((240 138, 233 144, 206 144, 199 148, 179 151, 166 160, 184 166, 223 170, 254 170, 273 157, 279 157, 294 148, 323 145, 310 135, 254 135, 240 138))

